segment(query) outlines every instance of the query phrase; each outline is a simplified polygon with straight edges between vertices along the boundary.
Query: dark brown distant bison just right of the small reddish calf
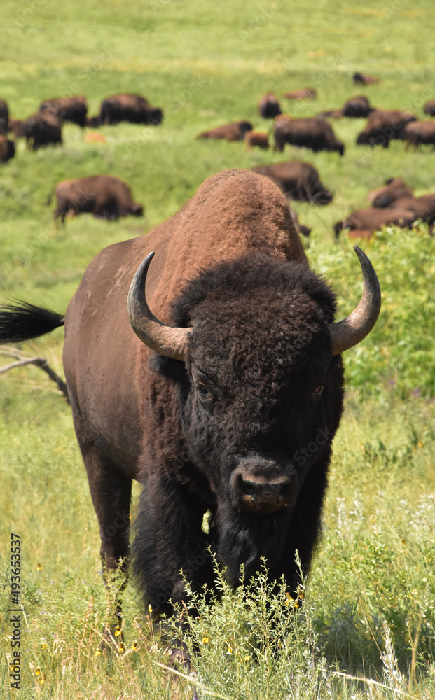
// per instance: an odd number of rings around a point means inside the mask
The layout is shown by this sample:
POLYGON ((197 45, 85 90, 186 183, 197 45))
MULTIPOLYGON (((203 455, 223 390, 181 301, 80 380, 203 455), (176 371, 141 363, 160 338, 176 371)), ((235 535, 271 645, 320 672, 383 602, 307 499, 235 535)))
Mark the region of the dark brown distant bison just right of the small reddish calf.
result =
POLYGON ((322 117, 294 119, 281 115, 275 119, 275 151, 284 151, 284 145, 311 148, 312 151, 345 152, 343 141, 338 141, 331 124, 322 117))

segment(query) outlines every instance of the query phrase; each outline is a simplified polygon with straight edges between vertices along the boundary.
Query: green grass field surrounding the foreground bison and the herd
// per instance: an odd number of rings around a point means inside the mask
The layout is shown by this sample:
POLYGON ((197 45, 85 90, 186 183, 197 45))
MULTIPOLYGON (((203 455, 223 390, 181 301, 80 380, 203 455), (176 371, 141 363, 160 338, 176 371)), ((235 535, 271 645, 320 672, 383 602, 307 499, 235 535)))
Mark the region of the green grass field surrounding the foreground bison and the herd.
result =
MULTIPOLYGON (((296 202, 312 227, 307 248, 345 316, 361 293, 357 258, 332 226, 366 206, 366 193, 403 176, 417 195, 435 191, 434 153, 364 148, 364 120, 333 122, 337 153, 286 146, 284 154, 196 141, 230 120, 258 116, 274 91, 284 111, 314 115, 354 94, 420 118, 435 97, 435 8, 430 0, 4 0, 0 97, 25 118, 43 99, 86 94, 90 114, 116 92, 139 92, 165 112, 159 127, 101 127, 104 144, 64 127, 64 144, 36 153, 18 143, 0 166, 0 302, 20 298, 62 313, 85 267, 104 246, 145 234, 221 169, 305 160, 335 195, 328 207, 296 202), (364 71, 382 78, 355 87, 364 71), (283 92, 312 86, 318 99, 292 104, 283 92), (53 225, 61 179, 106 173, 125 179, 143 220, 88 215, 53 225)), ((324 533, 305 603, 271 598, 263 577, 220 605, 198 601, 202 653, 195 678, 168 675, 165 645, 131 584, 123 606, 124 648, 99 654, 113 601, 99 563, 99 532, 69 407, 41 370, 0 377, 0 697, 23 700, 397 699, 435 696, 435 239, 427 225, 387 228, 361 247, 382 288, 375 330, 345 356, 347 403, 335 440, 324 533), (11 533, 22 542, 21 691, 11 688, 11 533), (277 612, 276 630, 271 612, 277 612), (282 636, 278 642, 274 635, 282 636), (279 646, 279 643, 281 646, 279 646), (352 680, 353 679, 353 680, 352 680)), ((62 373, 63 332, 22 345, 62 373)), ((6 348, 4 349, 7 350, 6 348)), ((13 358, 0 355, 1 364, 13 358)), ((137 496, 138 489, 134 494, 137 496)), ((216 573, 216 575, 218 575, 216 573)))

